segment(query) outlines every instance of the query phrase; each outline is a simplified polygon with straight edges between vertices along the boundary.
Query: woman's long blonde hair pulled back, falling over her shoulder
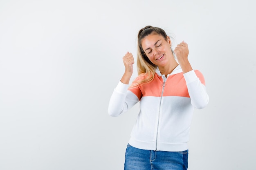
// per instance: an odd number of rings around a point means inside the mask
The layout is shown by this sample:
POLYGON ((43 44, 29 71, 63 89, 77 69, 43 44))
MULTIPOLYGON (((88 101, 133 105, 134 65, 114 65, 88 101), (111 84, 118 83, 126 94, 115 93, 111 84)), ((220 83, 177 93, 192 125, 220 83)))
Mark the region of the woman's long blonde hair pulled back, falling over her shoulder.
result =
POLYGON ((154 26, 145 26, 144 28, 139 30, 138 33, 138 54, 137 54, 137 71, 138 75, 143 76, 143 79, 139 79, 135 81, 130 87, 136 87, 141 84, 146 84, 148 82, 151 82, 155 77, 155 69, 157 68, 157 65, 153 64, 148 57, 146 56, 144 50, 141 46, 141 40, 145 38, 146 36, 150 34, 158 34, 162 35, 164 37, 164 40, 167 41, 167 35, 165 31, 159 27, 154 26))

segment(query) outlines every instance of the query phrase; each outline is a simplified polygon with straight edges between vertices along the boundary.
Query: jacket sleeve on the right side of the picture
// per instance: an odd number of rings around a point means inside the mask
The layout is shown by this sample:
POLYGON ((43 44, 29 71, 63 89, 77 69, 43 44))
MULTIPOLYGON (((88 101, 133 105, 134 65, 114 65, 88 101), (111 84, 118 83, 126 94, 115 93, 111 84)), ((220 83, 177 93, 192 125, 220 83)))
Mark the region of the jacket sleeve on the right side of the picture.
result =
POLYGON ((191 98, 191 104, 198 109, 202 109, 207 106, 209 96, 206 91, 202 73, 198 70, 192 70, 184 73, 184 78, 191 98))

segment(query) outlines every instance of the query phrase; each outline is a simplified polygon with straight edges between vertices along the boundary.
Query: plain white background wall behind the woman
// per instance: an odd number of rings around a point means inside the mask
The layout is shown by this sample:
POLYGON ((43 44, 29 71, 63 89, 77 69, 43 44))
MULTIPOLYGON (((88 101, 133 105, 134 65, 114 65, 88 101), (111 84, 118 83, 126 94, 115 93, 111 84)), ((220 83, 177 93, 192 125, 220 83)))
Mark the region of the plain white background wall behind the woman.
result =
POLYGON ((0 170, 122 170, 138 105, 108 102, 146 25, 206 80, 189 170, 255 170, 255 16, 253 0, 1 0, 0 170))

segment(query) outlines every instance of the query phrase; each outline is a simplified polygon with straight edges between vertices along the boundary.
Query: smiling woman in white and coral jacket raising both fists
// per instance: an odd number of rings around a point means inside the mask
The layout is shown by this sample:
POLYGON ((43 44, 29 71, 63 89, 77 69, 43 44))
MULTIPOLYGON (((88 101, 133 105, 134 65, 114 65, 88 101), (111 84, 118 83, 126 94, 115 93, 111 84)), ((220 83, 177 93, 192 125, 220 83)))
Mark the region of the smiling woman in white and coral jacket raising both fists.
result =
POLYGON ((174 51, 171 45, 163 29, 141 29, 139 75, 131 85, 134 58, 128 52, 123 57, 125 72, 112 93, 108 113, 119 116, 140 102, 126 148, 125 170, 187 170, 193 110, 204 108, 209 96, 202 73, 189 63, 186 42, 178 44, 174 51))

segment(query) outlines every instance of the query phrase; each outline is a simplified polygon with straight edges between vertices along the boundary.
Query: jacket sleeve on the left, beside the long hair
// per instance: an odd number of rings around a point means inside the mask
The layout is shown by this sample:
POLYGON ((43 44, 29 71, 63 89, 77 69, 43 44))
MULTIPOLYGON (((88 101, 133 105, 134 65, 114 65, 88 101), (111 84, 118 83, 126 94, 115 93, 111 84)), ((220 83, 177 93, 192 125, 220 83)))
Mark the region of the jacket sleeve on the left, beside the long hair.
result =
POLYGON ((121 81, 117 84, 108 104, 110 116, 117 117, 139 102, 138 97, 129 91, 128 87, 128 84, 123 84, 121 81))

